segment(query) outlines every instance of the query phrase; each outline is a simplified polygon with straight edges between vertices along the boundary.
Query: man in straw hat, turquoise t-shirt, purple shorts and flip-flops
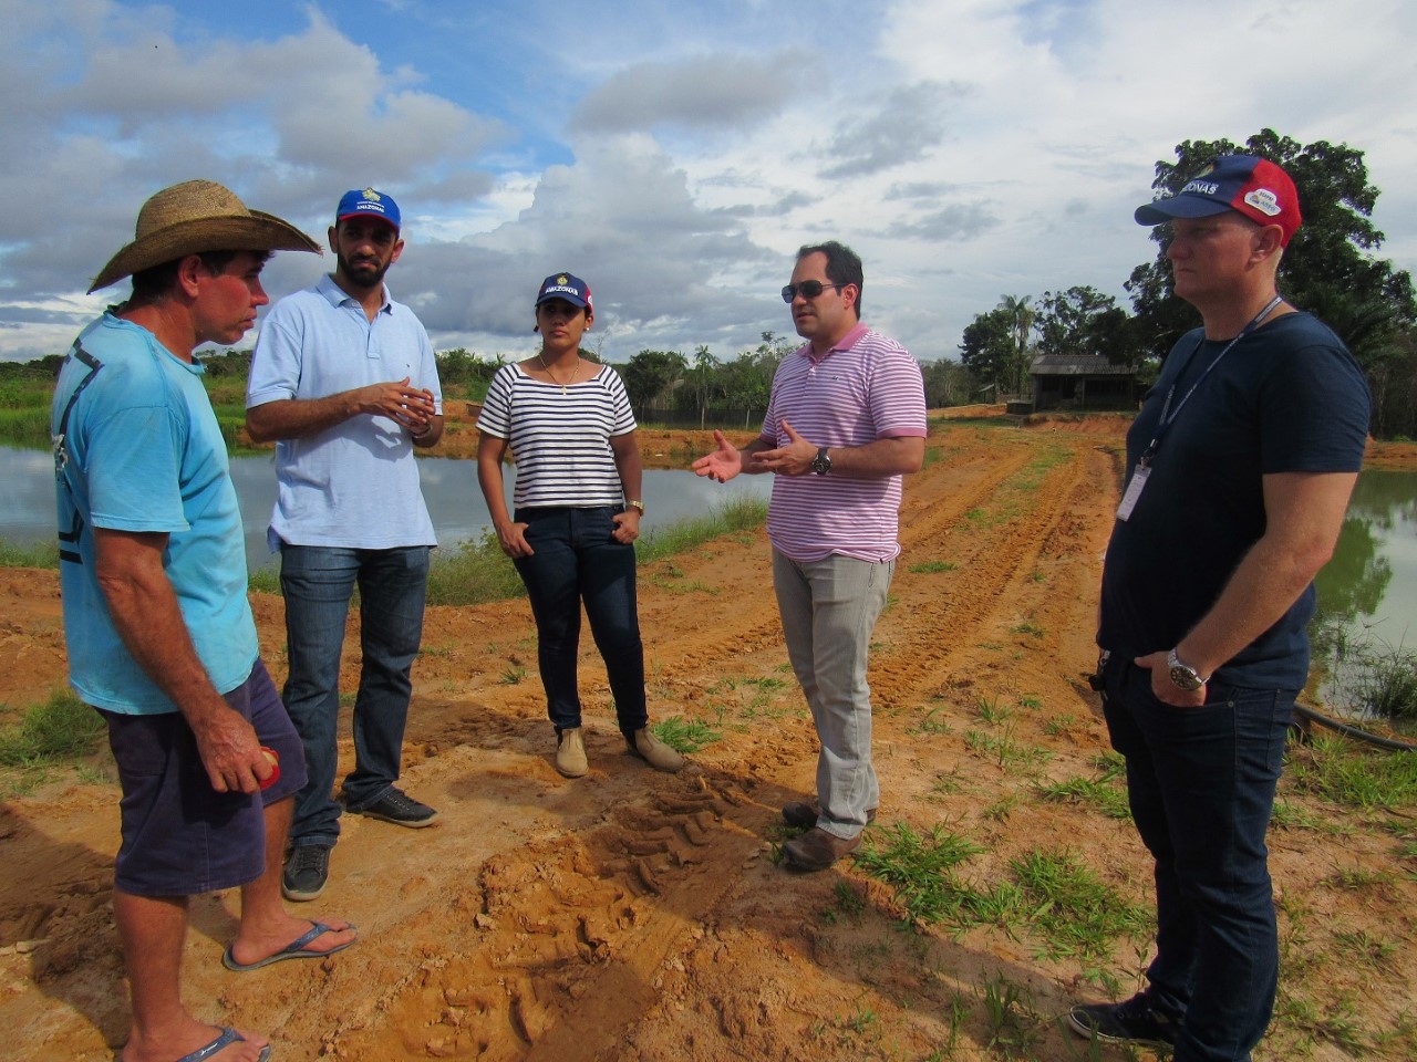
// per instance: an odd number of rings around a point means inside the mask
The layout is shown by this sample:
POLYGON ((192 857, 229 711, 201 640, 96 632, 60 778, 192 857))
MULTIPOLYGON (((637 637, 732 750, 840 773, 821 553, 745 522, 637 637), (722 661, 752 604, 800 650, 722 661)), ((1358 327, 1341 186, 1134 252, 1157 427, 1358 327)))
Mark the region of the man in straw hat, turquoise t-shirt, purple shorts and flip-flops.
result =
POLYGON ((227 449, 193 350, 231 344, 273 251, 319 251, 213 181, 153 195, 91 292, 128 302, 75 340, 51 412, 69 683, 123 790, 113 885, 133 1021, 122 1062, 252 1062, 264 1037, 183 1007, 187 898, 241 888, 231 970, 320 959, 353 926, 290 918, 281 854, 300 741, 259 657, 227 449))

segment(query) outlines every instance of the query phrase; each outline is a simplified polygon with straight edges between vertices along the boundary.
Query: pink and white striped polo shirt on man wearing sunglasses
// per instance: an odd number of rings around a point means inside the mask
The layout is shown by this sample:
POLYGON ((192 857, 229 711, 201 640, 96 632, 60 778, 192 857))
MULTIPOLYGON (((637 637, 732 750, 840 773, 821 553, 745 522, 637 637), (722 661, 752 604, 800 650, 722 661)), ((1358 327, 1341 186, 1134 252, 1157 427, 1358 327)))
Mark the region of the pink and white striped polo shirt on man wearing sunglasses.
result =
MULTIPOLYGON (((762 439, 786 446, 786 421, 818 446, 864 446, 877 439, 925 436, 925 382, 920 364, 896 340, 857 324, 815 360, 803 344, 778 365, 762 439)), ((794 561, 832 554, 860 561, 900 555, 901 476, 777 476, 768 538, 794 561)))

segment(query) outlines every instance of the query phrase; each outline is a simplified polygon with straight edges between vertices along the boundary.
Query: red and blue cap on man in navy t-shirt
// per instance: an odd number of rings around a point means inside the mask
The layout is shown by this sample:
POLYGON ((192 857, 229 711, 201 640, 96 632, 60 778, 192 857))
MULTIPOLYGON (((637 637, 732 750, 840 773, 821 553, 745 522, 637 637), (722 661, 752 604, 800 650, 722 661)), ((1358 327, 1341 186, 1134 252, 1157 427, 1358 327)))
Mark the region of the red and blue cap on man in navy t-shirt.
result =
POLYGON ((1299 193, 1289 174, 1253 154, 1224 154, 1165 200, 1136 208, 1139 225, 1165 225, 1172 218, 1207 218, 1237 211, 1260 225, 1278 225, 1280 244, 1299 231, 1299 193))

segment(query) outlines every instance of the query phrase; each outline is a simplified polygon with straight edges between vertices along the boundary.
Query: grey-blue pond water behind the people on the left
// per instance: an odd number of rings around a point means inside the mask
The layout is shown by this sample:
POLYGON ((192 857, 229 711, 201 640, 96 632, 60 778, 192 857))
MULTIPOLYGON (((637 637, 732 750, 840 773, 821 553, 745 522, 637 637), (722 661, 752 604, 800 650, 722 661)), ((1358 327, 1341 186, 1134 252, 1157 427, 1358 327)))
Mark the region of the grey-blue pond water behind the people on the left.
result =
MULTIPOLYGON (((476 462, 421 457, 418 473, 439 545, 458 545, 490 530, 492 521, 478 487, 476 462)), ((275 504, 273 456, 232 457, 231 479, 237 484, 247 530, 247 564, 252 569, 273 565, 265 541, 275 504)), ((509 473, 504 479, 510 500, 513 476, 509 473)), ((6 487, 4 503, 0 504, 0 539, 23 545, 52 539, 54 459, 48 450, 0 447, 0 483, 6 487)), ((740 476, 718 484, 687 470, 646 469, 643 532, 653 534, 656 527, 703 515, 728 498, 767 498, 771 490, 771 476, 740 476)))

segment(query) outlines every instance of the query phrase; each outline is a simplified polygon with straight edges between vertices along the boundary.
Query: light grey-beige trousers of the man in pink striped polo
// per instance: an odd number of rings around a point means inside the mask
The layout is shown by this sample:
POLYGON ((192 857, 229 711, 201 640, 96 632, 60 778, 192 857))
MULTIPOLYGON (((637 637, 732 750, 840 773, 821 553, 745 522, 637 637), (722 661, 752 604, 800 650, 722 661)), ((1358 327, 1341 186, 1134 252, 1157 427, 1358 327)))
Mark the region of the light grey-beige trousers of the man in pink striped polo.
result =
POLYGON ((833 554, 801 562, 772 551, 772 586, 788 658, 822 742, 816 760, 822 816, 816 824, 833 837, 856 837, 881 797, 871 765, 866 653, 894 573, 894 561, 833 554))

